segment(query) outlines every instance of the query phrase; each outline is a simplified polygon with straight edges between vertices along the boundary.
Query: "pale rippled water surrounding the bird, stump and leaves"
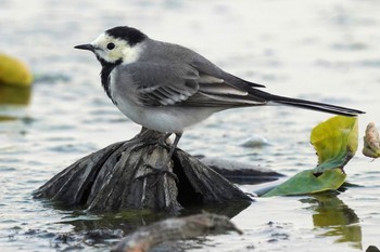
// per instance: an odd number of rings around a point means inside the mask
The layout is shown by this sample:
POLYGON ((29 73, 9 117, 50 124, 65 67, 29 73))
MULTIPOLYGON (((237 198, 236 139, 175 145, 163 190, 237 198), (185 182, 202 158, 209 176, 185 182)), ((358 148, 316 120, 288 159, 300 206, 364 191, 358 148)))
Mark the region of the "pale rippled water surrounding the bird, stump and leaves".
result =
MULTIPOLYGON (((190 47, 232 74, 266 84, 270 92, 366 110, 359 118, 360 140, 368 122, 380 121, 380 2, 376 0, 0 0, 0 5, 1 51, 27 62, 37 79, 31 91, 18 92, 22 101, 0 105, 3 251, 84 246, 75 234, 121 228, 129 218, 67 211, 30 195, 78 158, 139 131, 102 91, 93 55, 73 49, 113 26, 135 26, 152 38, 190 47), (65 243, 63 234, 74 237, 65 243)), ((191 154, 292 175, 315 167, 308 136, 327 118, 283 107, 230 110, 190 129, 179 145, 191 154), (269 144, 241 145, 257 135, 269 144)), ((380 246, 379 161, 358 151, 345 170, 349 182, 359 187, 338 196, 258 199, 232 218, 244 235, 211 236, 189 241, 188 249, 360 251, 380 246)), ((143 218, 136 225, 142 224, 143 218)), ((85 247, 86 251, 106 248, 107 243, 85 247)))

